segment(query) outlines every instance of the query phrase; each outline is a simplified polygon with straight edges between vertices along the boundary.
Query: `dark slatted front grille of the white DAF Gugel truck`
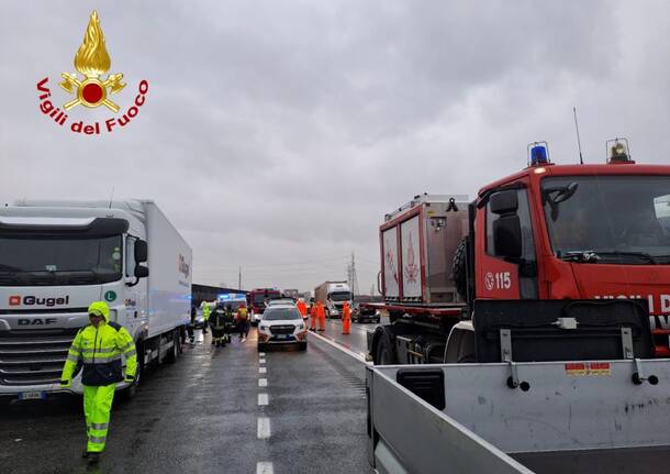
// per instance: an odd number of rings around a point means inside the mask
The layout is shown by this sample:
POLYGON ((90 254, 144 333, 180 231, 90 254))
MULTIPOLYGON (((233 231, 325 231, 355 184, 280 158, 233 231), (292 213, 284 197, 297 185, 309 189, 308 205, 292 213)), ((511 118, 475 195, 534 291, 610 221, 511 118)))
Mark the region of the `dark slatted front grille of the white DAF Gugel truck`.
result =
POLYGON ((77 329, 0 332, 0 385, 58 382, 76 334, 77 329))

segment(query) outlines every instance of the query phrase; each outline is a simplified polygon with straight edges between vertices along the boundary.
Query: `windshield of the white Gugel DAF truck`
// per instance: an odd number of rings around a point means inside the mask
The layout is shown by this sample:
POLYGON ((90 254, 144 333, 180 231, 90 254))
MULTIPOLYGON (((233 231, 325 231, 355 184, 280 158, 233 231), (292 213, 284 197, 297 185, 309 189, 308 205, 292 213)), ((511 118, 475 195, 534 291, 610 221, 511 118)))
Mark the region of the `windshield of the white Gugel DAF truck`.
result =
POLYGON ((91 239, 0 236, 0 283, 94 285, 121 279, 121 235, 91 239))

